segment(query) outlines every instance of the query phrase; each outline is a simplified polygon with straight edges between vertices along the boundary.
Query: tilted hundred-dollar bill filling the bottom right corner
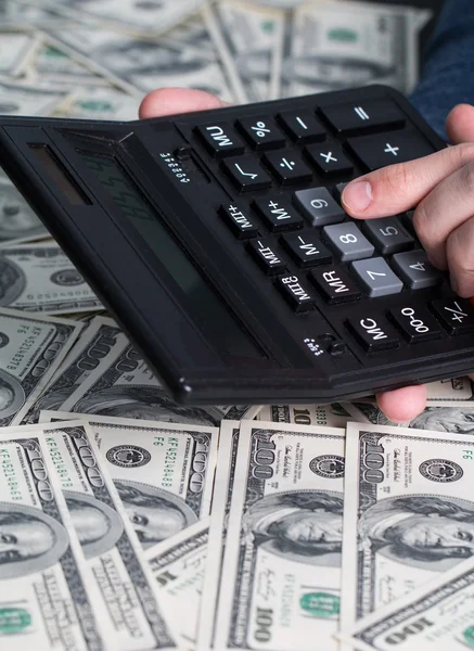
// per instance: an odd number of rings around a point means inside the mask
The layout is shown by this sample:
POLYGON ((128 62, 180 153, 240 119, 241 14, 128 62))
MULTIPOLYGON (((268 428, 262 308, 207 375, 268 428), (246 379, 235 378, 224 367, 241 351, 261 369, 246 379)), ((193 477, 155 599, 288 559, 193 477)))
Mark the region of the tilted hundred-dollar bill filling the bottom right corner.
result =
POLYGON ((341 639, 360 651, 465 651, 474 647, 474 559, 361 620, 341 639))

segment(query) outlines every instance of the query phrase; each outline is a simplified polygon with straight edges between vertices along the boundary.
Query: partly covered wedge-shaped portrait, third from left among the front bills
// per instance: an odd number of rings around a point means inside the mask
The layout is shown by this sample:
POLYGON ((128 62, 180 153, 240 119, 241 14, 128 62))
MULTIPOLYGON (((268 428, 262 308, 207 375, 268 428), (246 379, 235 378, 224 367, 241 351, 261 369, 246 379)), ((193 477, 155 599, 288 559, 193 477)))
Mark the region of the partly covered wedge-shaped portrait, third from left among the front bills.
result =
POLYGON ((144 549, 197 522, 185 501, 167 490, 128 480, 114 484, 144 549))

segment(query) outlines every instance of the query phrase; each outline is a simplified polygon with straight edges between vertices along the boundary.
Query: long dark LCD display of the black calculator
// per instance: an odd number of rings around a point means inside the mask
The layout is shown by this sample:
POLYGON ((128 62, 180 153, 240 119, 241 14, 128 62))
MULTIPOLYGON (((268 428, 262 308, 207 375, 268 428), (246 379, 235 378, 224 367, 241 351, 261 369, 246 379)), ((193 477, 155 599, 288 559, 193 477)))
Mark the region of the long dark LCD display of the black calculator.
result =
POLYGON ((187 297, 193 321, 225 355, 260 359, 267 356, 246 335, 226 304, 190 260, 163 224, 159 214, 112 156, 77 150, 87 167, 143 238, 187 297))

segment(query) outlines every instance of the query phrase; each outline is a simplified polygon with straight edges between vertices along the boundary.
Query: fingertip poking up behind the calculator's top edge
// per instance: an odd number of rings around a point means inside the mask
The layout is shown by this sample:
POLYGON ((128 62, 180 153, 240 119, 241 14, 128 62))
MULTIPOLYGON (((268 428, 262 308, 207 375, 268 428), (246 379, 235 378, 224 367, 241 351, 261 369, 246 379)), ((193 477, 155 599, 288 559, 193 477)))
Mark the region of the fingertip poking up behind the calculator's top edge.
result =
POLYGON ((189 88, 161 88, 150 92, 142 101, 139 110, 141 118, 177 115, 191 111, 221 108, 226 102, 203 90, 189 88))

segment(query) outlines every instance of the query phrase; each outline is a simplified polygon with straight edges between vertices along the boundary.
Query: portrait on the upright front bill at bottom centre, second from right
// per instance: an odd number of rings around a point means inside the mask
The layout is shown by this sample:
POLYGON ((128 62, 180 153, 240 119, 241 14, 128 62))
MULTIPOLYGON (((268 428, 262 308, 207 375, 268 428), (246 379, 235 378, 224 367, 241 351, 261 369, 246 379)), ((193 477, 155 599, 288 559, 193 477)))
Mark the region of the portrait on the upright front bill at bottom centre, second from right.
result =
POLYGON ((341 564, 344 499, 328 490, 264 497, 244 515, 244 536, 268 551, 302 563, 341 564))

